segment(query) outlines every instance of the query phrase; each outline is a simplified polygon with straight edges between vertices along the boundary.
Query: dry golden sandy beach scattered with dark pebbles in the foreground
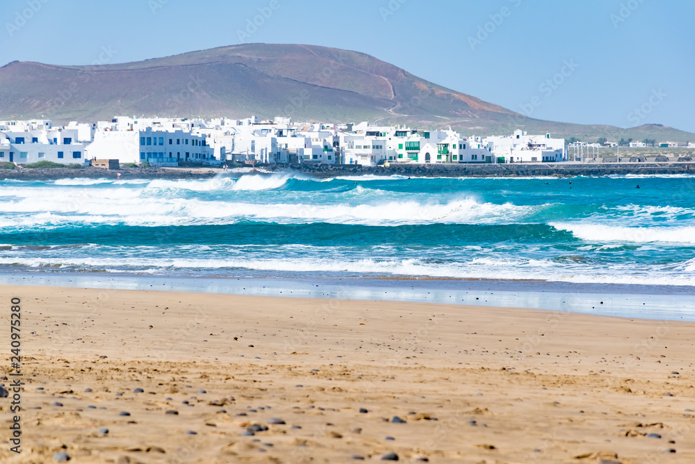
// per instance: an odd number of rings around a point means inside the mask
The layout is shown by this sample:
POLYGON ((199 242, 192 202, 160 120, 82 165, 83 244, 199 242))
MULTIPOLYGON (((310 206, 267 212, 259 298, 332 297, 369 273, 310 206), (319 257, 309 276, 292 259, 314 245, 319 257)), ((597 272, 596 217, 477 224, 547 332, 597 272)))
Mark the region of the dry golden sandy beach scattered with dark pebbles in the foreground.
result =
POLYGON ((3 463, 695 462, 695 323, 165 291, 0 295, 1 375, 18 297, 26 383, 21 454, 0 400, 3 463))

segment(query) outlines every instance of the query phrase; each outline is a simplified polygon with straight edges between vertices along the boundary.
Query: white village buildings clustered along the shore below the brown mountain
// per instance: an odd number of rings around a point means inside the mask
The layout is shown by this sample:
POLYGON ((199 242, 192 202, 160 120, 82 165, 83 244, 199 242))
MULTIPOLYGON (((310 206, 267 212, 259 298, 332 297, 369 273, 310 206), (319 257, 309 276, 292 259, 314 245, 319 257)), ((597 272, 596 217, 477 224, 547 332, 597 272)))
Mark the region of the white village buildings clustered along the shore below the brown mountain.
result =
POLYGON ((0 162, 51 161, 86 166, 95 159, 121 164, 534 163, 568 161, 563 138, 521 130, 505 136, 460 136, 456 131, 402 126, 259 120, 131 118, 95 123, 50 120, 0 122, 0 162))

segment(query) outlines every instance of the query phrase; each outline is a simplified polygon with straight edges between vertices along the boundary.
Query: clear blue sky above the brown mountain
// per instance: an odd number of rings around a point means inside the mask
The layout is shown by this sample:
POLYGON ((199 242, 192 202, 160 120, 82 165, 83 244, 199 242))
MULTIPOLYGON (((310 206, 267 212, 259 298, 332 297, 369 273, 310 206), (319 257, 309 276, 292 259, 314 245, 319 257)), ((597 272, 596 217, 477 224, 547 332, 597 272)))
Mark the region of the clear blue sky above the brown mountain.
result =
POLYGON ((0 15, 0 65, 89 64, 102 47, 122 63, 243 42, 324 45, 534 118, 695 132, 692 0, 3 0, 0 15), (254 17, 261 26, 240 40, 254 17))

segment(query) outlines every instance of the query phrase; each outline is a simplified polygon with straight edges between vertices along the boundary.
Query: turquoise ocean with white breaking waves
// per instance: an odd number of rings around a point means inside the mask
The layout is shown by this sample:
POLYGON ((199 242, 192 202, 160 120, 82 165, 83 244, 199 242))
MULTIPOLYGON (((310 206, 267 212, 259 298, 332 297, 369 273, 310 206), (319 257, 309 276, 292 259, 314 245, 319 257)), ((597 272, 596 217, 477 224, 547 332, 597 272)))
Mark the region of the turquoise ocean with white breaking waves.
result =
POLYGON ((109 173, 6 179, 0 198, 3 275, 695 294, 695 177, 687 175, 109 173))

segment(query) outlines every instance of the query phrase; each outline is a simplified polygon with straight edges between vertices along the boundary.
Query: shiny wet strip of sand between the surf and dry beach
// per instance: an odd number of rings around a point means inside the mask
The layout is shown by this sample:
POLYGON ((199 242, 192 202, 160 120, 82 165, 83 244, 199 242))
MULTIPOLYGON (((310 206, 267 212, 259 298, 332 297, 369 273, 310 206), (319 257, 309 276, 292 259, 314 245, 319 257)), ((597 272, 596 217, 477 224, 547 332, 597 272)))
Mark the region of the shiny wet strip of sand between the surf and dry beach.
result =
POLYGON ((630 284, 375 278, 264 278, 96 273, 0 273, 0 285, 186 291, 193 294, 353 299, 562 310, 622 318, 695 321, 695 289, 630 284))

